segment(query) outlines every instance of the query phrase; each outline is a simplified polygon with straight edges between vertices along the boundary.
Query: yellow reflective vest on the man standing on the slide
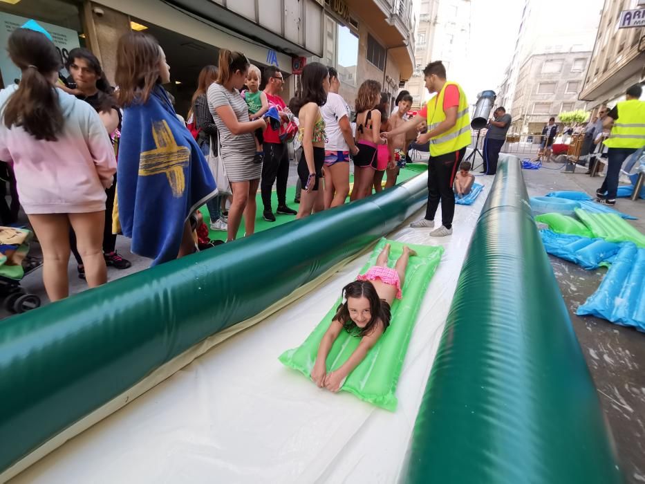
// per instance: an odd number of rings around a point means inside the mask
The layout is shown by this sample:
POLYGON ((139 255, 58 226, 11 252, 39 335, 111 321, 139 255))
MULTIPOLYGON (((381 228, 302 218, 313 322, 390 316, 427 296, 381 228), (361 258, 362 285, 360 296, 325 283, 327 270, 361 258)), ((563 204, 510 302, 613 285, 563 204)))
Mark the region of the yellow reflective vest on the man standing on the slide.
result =
POLYGON ((443 98, 448 86, 457 86, 459 89, 459 106, 457 108, 457 122, 445 133, 441 133, 434 138, 430 138, 430 155, 440 156, 446 153, 459 151, 463 147, 470 145, 470 115, 468 101, 461 86, 456 82, 448 81, 441 88, 440 93, 428 101, 428 131, 436 128, 440 122, 446 119, 446 113, 443 112, 443 98))

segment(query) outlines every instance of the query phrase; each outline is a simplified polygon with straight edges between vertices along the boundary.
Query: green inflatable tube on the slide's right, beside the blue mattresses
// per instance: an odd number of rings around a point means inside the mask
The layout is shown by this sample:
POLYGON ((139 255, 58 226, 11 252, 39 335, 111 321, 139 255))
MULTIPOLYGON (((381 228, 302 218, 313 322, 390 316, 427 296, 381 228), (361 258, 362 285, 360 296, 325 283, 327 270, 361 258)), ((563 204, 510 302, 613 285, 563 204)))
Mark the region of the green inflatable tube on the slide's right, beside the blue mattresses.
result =
POLYGON ((519 160, 503 156, 425 389, 404 483, 624 482, 527 201, 519 160))

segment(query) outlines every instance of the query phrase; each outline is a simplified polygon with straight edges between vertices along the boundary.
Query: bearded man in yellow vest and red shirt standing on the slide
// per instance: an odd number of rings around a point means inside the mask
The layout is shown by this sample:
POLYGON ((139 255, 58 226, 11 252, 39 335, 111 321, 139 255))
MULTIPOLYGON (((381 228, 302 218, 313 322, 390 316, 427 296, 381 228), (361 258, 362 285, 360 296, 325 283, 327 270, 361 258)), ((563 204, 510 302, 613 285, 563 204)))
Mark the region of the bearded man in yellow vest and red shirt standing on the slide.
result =
POLYGON ((469 106, 461 86, 446 80, 446 68, 441 61, 428 64, 423 75, 428 92, 437 95, 414 118, 389 133, 382 133, 382 136, 391 140, 416 129, 421 121, 427 122, 428 131, 419 135, 417 143, 424 145, 430 142, 428 203, 425 218, 413 222, 411 227, 434 227, 434 216, 441 201, 442 225, 430 235, 442 237, 452 234, 455 214, 453 183, 471 141, 469 106))

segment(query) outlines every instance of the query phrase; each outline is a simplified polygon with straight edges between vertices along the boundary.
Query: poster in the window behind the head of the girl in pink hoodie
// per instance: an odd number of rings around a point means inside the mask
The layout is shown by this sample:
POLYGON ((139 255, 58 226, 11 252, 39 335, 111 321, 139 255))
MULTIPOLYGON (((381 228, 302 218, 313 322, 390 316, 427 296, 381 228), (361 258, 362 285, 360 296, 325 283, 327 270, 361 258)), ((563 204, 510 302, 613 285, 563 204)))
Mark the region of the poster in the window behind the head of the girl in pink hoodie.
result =
MULTIPOLYGON (((18 15, 0 12, 0 73, 5 86, 9 86, 20 79, 20 69, 11 62, 7 53, 9 35, 13 30, 20 28, 29 20, 27 17, 19 17, 18 15)), ((56 50, 58 50, 58 55, 60 55, 61 64, 64 64, 67 60, 67 55, 70 50, 75 47, 80 47, 78 32, 76 30, 41 21, 37 21, 37 24, 47 30, 49 35, 51 35, 56 50)), ((68 72, 64 68, 61 70, 61 73, 65 77, 68 75, 68 72)))

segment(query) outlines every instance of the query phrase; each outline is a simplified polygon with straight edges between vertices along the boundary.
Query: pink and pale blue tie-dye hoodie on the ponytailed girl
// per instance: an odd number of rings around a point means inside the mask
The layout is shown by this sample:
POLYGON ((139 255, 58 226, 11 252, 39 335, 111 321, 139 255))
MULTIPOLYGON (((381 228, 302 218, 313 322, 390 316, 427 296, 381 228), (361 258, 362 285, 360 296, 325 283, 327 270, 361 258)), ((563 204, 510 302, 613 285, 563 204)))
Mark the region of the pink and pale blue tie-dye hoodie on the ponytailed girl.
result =
MULTIPOLYGON (((0 91, 0 106, 17 87, 0 91)), ((114 148, 90 104, 55 92, 64 119, 58 140, 37 140, 23 127, 1 124, 0 160, 13 162, 26 214, 100 212, 116 171, 114 148)))

